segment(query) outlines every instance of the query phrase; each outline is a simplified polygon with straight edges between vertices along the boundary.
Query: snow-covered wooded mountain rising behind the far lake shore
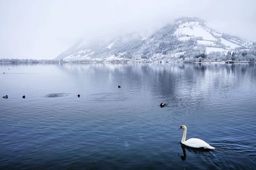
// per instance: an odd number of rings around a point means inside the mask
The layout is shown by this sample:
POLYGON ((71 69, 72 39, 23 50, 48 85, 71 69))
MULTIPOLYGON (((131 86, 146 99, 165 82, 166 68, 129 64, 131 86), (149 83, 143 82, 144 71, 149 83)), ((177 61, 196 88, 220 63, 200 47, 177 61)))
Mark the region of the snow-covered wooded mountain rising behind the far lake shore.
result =
POLYGON ((109 41, 87 43, 79 41, 56 59, 63 60, 120 60, 175 59, 180 56, 228 53, 252 48, 253 42, 214 31, 199 18, 184 17, 165 25, 150 36, 127 34, 109 41))

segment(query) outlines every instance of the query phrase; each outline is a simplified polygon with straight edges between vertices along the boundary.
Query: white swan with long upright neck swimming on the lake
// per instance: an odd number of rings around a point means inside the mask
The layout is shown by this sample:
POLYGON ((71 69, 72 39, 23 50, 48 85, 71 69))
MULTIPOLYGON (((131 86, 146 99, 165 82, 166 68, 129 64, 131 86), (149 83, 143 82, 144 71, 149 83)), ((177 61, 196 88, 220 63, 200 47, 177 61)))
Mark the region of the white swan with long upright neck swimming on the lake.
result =
POLYGON ((209 149, 209 150, 214 150, 215 149, 214 147, 212 147, 211 145, 209 145, 208 143, 206 143, 202 139, 191 138, 191 139, 186 140, 186 136, 187 136, 187 127, 186 127, 186 125, 181 125, 179 129, 184 130, 183 135, 182 135, 182 139, 181 139, 181 143, 183 145, 189 146, 191 148, 204 148, 204 149, 209 149))

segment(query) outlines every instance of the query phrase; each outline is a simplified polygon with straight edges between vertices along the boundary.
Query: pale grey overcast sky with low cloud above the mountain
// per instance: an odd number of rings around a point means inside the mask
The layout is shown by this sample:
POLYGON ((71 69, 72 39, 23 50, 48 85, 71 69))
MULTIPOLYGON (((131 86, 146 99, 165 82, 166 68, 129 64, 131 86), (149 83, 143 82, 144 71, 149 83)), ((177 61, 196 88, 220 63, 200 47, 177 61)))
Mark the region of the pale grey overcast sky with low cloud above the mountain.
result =
POLYGON ((256 41, 255 0, 0 0, 0 58, 54 59, 78 39, 152 31, 199 17, 256 41))

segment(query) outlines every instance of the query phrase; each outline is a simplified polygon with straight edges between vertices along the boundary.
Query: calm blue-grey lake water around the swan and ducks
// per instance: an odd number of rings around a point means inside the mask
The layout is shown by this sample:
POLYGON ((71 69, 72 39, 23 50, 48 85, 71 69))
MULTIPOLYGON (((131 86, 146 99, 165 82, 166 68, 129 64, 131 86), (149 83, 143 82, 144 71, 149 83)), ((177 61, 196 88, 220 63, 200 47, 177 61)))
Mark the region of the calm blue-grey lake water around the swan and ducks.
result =
POLYGON ((0 169, 256 169, 256 66, 1 64, 0 71, 0 169), (187 139, 216 149, 181 146, 182 124, 187 139))

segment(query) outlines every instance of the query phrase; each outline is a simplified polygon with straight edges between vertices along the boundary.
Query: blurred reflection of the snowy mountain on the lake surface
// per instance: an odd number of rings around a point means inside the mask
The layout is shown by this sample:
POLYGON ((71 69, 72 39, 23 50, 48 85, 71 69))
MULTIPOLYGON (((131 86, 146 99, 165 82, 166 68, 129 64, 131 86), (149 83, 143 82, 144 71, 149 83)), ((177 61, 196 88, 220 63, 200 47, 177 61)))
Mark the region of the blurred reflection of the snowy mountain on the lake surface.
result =
POLYGON ((255 66, 249 64, 67 64, 60 69, 81 83, 97 81, 116 87, 122 83, 126 89, 136 86, 171 106, 200 105, 216 93, 235 92, 250 84, 248 81, 256 81, 255 66))

